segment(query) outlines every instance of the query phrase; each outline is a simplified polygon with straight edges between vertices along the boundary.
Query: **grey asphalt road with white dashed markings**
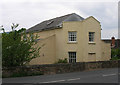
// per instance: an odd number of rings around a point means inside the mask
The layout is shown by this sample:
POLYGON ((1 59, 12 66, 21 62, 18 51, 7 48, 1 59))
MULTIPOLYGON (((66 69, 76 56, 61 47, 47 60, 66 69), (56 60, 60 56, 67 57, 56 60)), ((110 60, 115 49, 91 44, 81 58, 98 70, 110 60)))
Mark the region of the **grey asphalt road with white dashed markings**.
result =
POLYGON ((3 78, 3 83, 118 83, 118 68, 40 75, 19 78, 3 78))

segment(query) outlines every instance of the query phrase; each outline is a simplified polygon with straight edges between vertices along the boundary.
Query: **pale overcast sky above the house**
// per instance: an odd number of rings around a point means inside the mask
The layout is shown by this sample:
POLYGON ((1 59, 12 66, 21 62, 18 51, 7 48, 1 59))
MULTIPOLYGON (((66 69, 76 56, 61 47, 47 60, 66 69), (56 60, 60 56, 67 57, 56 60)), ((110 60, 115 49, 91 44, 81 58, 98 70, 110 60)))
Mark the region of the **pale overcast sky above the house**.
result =
POLYGON ((118 0, 2 0, 0 25, 10 31, 11 23, 30 28, 44 20, 76 13, 94 16, 101 22, 102 39, 118 38, 118 0))

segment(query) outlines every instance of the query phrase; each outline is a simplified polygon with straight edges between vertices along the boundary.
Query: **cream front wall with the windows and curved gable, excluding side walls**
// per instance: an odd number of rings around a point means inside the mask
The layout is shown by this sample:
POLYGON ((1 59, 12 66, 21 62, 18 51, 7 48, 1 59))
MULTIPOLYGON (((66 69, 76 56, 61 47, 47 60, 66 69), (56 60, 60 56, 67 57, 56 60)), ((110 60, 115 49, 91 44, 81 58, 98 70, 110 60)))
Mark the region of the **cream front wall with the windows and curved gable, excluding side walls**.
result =
MULTIPOLYGON (((56 35, 58 34, 56 33, 56 35)), ((98 23, 93 17, 83 21, 63 22, 63 29, 60 35, 56 36, 56 39, 60 39, 60 43, 56 43, 56 46, 60 46, 56 49, 58 59, 62 57, 69 59, 68 52, 76 52, 77 62, 101 60, 101 27, 100 23, 98 23), (76 43, 68 42, 69 31, 77 32, 76 43), (95 32, 94 43, 89 43, 89 32, 95 32), (89 52, 95 52, 97 56, 96 59, 92 57, 89 58, 89 52)))

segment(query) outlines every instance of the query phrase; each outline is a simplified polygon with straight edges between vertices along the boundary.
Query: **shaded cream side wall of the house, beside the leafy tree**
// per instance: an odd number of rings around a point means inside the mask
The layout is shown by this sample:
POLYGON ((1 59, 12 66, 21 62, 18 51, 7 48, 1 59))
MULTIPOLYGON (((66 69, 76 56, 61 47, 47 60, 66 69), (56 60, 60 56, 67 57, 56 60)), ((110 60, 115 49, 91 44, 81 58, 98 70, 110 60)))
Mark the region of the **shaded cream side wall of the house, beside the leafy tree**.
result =
POLYGON ((51 64, 55 62, 55 34, 54 30, 35 33, 39 35, 36 47, 41 47, 40 57, 33 59, 29 64, 51 64))

